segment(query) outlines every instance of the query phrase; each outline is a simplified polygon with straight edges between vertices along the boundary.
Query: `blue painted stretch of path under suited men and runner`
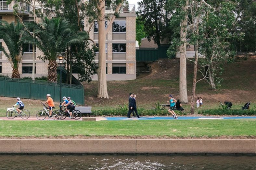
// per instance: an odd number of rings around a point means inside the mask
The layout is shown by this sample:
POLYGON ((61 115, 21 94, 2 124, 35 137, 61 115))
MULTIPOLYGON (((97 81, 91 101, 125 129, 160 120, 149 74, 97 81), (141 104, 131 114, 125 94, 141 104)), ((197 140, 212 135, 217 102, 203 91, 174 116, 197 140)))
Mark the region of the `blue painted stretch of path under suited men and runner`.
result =
POLYGON ((256 116, 240 116, 240 117, 188 117, 179 116, 178 119, 173 119, 173 117, 141 117, 141 118, 126 118, 126 117, 105 117, 107 120, 191 120, 191 119, 256 119, 256 116))

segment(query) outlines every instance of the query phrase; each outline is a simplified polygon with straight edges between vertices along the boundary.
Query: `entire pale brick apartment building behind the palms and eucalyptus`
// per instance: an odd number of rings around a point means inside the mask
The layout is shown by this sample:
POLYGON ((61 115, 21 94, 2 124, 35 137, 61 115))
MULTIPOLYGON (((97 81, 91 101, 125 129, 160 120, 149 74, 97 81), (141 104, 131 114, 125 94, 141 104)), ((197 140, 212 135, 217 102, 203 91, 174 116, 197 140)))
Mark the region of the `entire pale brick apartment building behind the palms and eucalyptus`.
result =
MULTIPOLYGON (((17 2, 16 2, 17 3, 17 2)), ((13 15, 12 7, 15 3, 6 4, 6 0, 0 0, 0 19, 12 22, 17 19, 13 15)), ((33 18, 29 14, 30 7, 25 3, 18 3, 20 16, 23 21, 32 21, 33 18)), ((115 5, 106 6, 106 13, 113 13, 115 5)), ((136 28, 135 5, 123 5, 120 8, 120 15, 115 19, 106 37, 106 74, 107 80, 133 80, 136 79, 136 57, 135 57, 135 28, 136 28)), ((86 23, 86 21, 85 21, 86 23)), ((88 27, 85 27, 88 31, 88 27)), ((98 43, 98 26, 94 22, 94 28, 90 31, 90 38, 98 43)), ((0 45, 6 48, 3 40, 0 45)), ((91 43, 92 44, 92 43, 91 43)), ((32 76, 32 45, 27 44, 23 54, 22 61, 19 65, 20 77, 32 76)), ((7 48, 6 48, 7 49, 7 48)), ((36 48, 35 52, 35 77, 47 76, 48 62, 38 59, 43 53, 36 48)), ((98 63, 98 53, 96 52, 95 62, 98 63)), ((6 56, 0 51, 0 74, 12 74, 12 68, 6 56)), ((74 74, 77 76, 76 74, 74 74)), ((93 80, 97 80, 97 75, 93 75, 93 80)))

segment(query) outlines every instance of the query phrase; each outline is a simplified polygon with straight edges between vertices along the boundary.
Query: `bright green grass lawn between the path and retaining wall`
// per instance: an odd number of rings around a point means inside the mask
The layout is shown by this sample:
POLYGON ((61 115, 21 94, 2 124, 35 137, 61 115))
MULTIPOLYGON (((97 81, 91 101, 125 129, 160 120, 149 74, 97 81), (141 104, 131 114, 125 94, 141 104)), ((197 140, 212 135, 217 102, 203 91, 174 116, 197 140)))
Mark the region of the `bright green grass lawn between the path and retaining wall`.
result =
POLYGON ((1 121, 1 137, 256 136, 256 120, 1 121))

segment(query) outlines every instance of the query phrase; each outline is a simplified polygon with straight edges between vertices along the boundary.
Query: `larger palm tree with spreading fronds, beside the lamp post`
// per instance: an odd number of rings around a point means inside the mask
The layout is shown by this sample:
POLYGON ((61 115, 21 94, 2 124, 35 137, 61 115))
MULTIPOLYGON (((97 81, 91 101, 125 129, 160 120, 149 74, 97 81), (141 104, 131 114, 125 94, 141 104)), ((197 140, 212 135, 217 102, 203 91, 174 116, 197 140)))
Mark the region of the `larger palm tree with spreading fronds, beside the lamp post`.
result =
POLYGON ((57 58, 65 51, 68 45, 83 43, 88 39, 86 32, 75 33, 69 22, 61 18, 45 18, 42 22, 28 23, 28 28, 35 29, 34 38, 31 35, 24 36, 24 43, 35 44, 44 56, 39 57, 43 61, 48 60, 48 81, 57 82, 57 58))

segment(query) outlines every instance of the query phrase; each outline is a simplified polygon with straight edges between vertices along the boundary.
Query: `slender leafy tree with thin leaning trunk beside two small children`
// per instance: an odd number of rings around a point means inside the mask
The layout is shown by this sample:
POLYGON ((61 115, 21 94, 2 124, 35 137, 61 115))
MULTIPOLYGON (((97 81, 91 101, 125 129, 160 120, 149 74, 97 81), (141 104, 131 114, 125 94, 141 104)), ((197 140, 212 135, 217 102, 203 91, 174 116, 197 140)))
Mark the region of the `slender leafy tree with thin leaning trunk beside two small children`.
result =
MULTIPOLYGON (((233 54, 228 50, 230 44, 227 40, 233 37, 231 27, 235 25, 234 4, 229 1, 208 1, 206 3, 204 0, 170 0, 169 2, 170 7, 173 7, 171 25, 177 26, 177 23, 182 23, 184 18, 187 18, 187 24, 184 24, 184 26, 187 25, 186 42, 195 46, 191 97, 191 114, 194 114, 196 84, 211 74, 208 69, 206 74, 203 74, 203 78, 197 80, 198 56, 204 56, 205 61, 208 61, 205 63, 208 63, 208 68, 210 68, 213 59, 215 60, 214 65, 219 67, 218 63, 225 61, 224 56, 229 57, 230 54, 233 54)), ((176 30, 181 30, 180 26, 176 28, 176 30)), ((176 52, 186 42, 185 40, 173 40, 170 50, 176 52)))

